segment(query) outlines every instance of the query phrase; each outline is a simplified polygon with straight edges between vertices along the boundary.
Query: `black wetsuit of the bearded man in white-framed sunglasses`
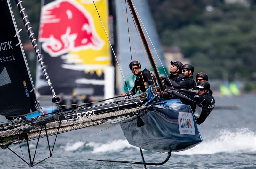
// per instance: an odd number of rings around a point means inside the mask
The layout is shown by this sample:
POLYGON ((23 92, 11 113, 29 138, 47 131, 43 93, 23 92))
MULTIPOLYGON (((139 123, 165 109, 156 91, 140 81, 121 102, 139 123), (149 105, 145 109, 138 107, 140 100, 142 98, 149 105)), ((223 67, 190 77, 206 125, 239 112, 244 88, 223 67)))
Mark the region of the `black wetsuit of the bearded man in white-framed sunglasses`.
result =
MULTIPOLYGON (((196 86, 196 82, 194 81, 193 76, 188 77, 188 78, 184 78, 179 82, 176 82, 176 81, 173 81, 173 80, 170 80, 170 81, 172 83, 172 85, 170 84, 170 86, 173 86, 173 88, 176 88, 176 89, 187 89, 187 90, 189 90, 189 89, 192 89, 196 86)), ((169 80, 167 82, 169 82, 169 80)))

